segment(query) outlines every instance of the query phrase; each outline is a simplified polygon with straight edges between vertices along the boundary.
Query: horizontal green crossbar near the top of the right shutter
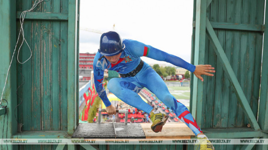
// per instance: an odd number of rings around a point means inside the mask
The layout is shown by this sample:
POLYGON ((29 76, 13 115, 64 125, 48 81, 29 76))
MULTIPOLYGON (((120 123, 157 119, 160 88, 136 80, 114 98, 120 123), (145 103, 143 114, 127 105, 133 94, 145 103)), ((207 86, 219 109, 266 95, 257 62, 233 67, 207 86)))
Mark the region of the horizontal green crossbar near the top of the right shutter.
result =
POLYGON ((246 24, 237 22, 211 22, 213 29, 224 30, 242 30, 242 31, 256 31, 263 32, 261 24, 246 24))

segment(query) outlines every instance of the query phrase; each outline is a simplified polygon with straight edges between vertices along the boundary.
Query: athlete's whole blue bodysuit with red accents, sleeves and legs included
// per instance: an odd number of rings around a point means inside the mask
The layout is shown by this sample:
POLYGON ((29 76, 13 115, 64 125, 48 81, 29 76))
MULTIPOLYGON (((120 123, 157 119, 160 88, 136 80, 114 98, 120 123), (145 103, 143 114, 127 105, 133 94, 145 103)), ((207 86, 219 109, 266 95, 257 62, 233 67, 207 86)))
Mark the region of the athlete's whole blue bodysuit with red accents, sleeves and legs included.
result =
MULTIPOLYGON (((106 107, 110 106, 111 102, 107 98, 102 84, 105 69, 114 70, 120 74, 127 74, 139 65, 140 57, 146 56, 155 60, 171 63, 191 72, 195 71, 194 65, 187 63, 177 56, 160 51, 150 45, 145 45, 144 43, 130 39, 124 39, 123 44, 125 45, 125 49, 122 51, 120 59, 116 64, 110 63, 106 58, 100 59, 103 55, 99 52, 94 58, 94 83, 96 91, 106 107)), ((153 108, 149 104, 145 103, 137 94, 143 87, 146 87, 167 107, 171 108, 179 119, 187 124, 196 135, 201 132, 188 109, 169 93, 163 79, 161 79, 152 67, 145 62, 142 69, 134 77, 113 78, 109 81, 107 87, 110 92, 115 94, 125 103, 149 114, 153 108)))

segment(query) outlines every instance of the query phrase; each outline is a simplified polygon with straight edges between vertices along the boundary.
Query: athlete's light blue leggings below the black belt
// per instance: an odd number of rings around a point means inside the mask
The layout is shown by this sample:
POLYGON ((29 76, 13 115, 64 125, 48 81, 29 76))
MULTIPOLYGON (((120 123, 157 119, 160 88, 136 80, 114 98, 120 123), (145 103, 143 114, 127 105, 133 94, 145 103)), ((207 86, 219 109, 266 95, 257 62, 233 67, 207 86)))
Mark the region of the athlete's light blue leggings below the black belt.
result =
POLYGON ((149 114, 153 108, 138 95, 143 87, 171 108, 195 135, 202 132, 187 107, 170 94, 163 79, 147 63, 144 62, 142 69, 134 77, 112 78, 108 83, 109 91, 119 99, 149 114))

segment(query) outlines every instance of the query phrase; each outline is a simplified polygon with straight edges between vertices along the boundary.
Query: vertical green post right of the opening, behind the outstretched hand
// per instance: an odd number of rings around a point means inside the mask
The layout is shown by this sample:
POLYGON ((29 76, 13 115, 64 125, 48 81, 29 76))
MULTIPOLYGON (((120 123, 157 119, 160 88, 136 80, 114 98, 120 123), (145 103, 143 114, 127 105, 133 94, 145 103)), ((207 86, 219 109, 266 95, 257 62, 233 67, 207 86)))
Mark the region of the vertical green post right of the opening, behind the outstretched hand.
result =
MULTIPOLYGON (((196 1, 196 30, 194 65, 204 64, 205 36, 206 36, 206 0, 196 1)), ((193 78, 193 101, 191 113, 197 124, 201 125, 202 119, 203 82, 197 77, 193 78), (198 106, 198 107, 197 107, 198 106)))

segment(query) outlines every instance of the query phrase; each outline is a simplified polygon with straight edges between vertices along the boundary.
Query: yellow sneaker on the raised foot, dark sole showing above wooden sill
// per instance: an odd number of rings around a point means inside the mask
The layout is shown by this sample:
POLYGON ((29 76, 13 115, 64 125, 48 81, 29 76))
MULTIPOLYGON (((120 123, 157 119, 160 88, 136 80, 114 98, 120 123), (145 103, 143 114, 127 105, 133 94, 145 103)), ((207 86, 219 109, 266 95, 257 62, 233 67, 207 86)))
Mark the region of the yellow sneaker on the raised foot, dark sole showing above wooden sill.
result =
POLYGON ((159 111, 152 111, 150 113, 150 118, 152 120, 151 129, 153 132, 161 132, 163 125, 167 122, 169 116, 165 115, 163 113, 160 113, 159 111))

